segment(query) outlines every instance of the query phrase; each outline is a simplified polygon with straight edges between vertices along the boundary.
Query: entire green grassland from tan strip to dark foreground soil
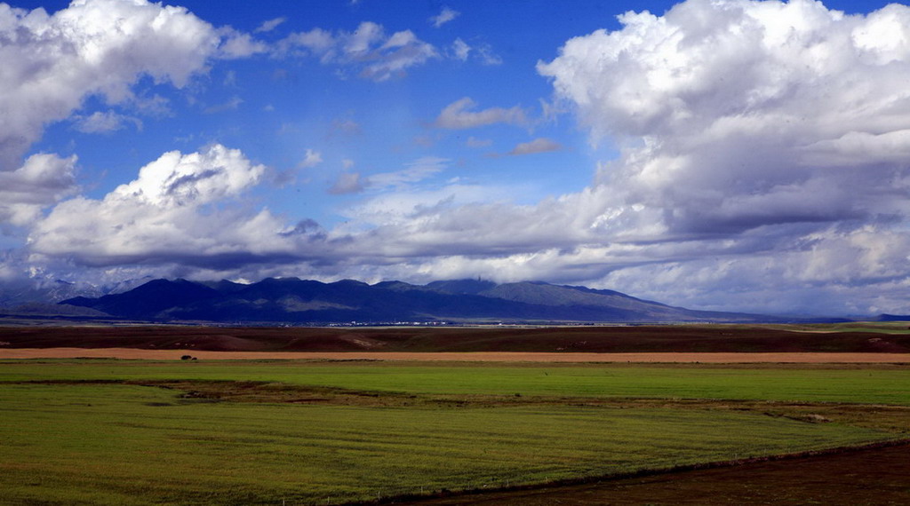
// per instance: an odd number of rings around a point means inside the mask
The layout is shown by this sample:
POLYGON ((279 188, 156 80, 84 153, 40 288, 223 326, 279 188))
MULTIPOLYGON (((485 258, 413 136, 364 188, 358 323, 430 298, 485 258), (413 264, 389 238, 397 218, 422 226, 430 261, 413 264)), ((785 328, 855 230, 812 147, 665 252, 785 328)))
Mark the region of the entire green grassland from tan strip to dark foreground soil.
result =
POLYGON ((896 365, 6 361, 0 502, 490 490, 894 440, 908 406, 896 365))

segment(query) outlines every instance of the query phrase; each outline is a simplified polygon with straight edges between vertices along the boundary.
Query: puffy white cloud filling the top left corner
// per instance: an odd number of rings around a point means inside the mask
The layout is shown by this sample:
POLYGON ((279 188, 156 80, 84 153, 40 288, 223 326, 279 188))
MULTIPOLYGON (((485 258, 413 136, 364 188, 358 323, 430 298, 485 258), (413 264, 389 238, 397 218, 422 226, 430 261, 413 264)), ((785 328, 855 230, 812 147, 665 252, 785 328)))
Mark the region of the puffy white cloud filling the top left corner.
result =
POLYGON ((86 95, 123 102, 143 74, 182 87, 220 44, 217 30, 183 7, 86 0, 48 15, 0 5, 0 170, 15 169, 45 124, 86 95))

